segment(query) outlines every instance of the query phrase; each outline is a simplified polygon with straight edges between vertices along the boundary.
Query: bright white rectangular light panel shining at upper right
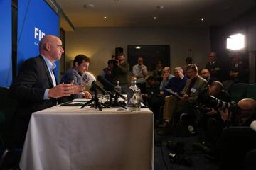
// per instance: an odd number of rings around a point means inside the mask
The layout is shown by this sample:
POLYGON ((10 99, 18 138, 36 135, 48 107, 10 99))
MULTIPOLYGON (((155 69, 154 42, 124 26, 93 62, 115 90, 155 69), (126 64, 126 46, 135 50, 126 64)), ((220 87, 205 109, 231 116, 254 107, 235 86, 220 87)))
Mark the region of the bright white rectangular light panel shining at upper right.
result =
POLYGON ((235 34, 227 38, 227 49, 240 50, 245 47, 245 35, 235 34))

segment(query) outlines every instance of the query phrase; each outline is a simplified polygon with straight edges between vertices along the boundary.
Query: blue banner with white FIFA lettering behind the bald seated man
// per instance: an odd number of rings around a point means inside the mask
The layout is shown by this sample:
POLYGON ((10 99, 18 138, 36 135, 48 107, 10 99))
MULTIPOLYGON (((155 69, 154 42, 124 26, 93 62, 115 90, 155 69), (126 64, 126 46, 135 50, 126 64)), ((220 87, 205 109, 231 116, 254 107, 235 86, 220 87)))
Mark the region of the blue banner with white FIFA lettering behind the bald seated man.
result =
MULTIPOLYGON (((18 0, 17 70, 22 62, 39 55, 44 35, 59 35, 59 17, 44 0, 18 0)), ((54 69, 58 79, 59 62, 54 69)))

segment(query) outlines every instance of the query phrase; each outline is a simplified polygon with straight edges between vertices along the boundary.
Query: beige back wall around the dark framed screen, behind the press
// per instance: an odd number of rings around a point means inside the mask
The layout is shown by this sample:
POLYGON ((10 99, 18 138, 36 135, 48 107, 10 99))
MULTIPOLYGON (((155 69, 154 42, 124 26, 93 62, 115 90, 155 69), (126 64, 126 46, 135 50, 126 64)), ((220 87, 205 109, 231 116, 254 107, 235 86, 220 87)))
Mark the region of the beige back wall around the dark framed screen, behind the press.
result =
POLYGON ((188 49, 199 68, 205 66, 210 52, 208 28, 75 28, 65 38, 66 61, 85 54, 91 59, 90 72, 100 74, 115 47, 127 45, 170 45, 171 68, 183 66, 188 49))

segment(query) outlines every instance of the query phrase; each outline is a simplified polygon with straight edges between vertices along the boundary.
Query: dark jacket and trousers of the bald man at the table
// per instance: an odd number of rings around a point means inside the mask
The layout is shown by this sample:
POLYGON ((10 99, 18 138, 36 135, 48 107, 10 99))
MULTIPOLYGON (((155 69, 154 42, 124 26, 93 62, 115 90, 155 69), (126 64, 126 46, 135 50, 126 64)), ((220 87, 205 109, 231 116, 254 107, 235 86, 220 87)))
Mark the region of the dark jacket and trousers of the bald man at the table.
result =
MULTIPOLYGON (((57 83, 56 83, 57 84, 57 83)), ((46 89, 53 88, 48 67, 42 56, 33 57, 21 65, 16 80, 11 84, 11 96, 18 101, 11 132, 10 147, 23 147, 31 114, 57 104, 55 98, 44 100, 46 89)))

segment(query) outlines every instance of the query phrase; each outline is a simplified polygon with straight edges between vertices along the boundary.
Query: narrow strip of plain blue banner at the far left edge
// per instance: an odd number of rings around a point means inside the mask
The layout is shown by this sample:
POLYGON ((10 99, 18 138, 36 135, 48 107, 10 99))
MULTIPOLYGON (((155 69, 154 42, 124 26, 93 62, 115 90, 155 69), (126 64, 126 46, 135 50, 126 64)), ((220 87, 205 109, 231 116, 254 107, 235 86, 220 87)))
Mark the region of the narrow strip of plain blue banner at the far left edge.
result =
POLYGON ((0 86, 9 87, 12 81, 10 0, 0 0, 0 18, 0 86))

